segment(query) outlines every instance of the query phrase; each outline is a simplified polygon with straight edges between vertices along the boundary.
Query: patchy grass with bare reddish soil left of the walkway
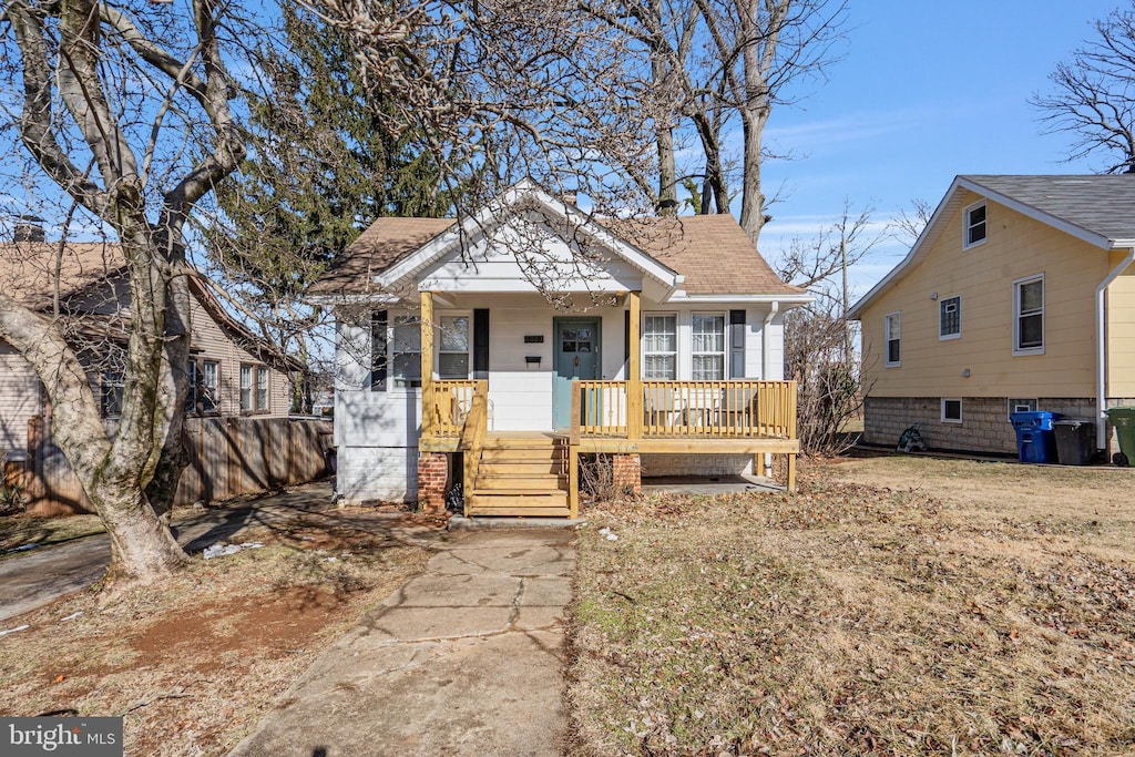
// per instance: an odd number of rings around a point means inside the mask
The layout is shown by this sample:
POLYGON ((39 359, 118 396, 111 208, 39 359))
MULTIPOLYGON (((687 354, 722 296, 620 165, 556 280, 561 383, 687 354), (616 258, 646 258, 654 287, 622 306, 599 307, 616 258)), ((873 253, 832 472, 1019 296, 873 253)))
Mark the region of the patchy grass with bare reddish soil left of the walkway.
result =
POLYGON ((363 613, 421 570, 407 542, 437 522, 363 510, 301 513, 100 606, 94 591, 9 619, 0 712, 125 715, 126 754, 224 755, 363 613))

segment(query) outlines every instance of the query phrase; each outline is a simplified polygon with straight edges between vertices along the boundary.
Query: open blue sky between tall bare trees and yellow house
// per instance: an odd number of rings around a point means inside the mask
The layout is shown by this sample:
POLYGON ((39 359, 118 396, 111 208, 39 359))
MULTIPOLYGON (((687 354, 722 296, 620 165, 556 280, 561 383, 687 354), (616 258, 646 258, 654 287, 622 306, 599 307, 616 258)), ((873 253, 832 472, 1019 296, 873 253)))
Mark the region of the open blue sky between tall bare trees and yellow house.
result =
MULTIPOLYGON (((851 0, 846 58, 799 104, 773 112, 765 194, 781 202, 760 236, 774 259, 793 237, 838 217, 844 197, 880 224, 936 205, 958 174, 1083 174, 1102 160, 1062 162, 1067 134, 1041 133, 1029 95, 1094 39, 1119 0, 851 0)), ((1126 7, 1130 7, 1126 5, 1126 7)), ((852 274, 852 301, 906 254, 889 242, 852 274)))

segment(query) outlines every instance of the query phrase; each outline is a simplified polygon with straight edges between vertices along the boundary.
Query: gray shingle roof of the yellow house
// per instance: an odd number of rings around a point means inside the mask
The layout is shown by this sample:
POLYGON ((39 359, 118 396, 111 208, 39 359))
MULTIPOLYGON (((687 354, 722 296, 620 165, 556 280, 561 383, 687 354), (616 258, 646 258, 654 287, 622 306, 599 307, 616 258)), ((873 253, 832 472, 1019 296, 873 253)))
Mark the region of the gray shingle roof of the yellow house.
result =
POLYGON ((1135 239, 1135 175, 966 175, 990 192, 1112 242, 1135 239))

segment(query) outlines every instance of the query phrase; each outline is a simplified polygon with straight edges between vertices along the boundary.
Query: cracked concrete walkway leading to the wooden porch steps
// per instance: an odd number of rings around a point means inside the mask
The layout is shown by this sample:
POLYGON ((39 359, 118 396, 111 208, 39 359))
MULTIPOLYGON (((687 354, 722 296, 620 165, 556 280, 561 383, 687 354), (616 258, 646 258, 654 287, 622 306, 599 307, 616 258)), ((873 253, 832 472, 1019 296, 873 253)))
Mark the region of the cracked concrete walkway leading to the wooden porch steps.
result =
POLYGON ((312 665, 230 757, 560 755, 568 530, 470 530, 312 665))

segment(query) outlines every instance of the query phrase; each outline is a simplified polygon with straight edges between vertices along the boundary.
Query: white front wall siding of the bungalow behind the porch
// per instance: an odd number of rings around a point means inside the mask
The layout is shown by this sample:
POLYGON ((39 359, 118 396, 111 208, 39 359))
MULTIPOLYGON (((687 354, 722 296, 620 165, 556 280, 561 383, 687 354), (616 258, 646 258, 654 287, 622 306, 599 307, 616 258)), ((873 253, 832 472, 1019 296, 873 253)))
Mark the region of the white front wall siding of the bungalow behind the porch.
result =
MULTIPOLYGON (((443 294, 435 304, 435 318, 448 314, 470 316, 477 309, 489 310, 489 428, 495 431, 552 429, 554 319, 598 318, 602 321, 602 378, 627 378, 623 360, 625 301, 617 305, 596 306, 586 312, 557 313, 537 294, 443 294), (526 344, 526 336, 543 336, 541 344, 526 344), (539 355, 539 367, 528 367, 527 355, 539 355)), ((691 322, 696 312, 723 313, 730 303, 657 306, 644 302, 642 312, 672 312, 679 325, 679 379, 692 371, 691 322)), ((735 306, 733 309, 737 309, 735 306)), ((747 378, 783 378, 783 316, 768 325, 770 372, 764 375, 764 329, 767 305, 746 308, 745 365, 747 378)), ((388 323, 412 311, 388 310, 388 323)), ((339 449, 338 494, 350 502, 413 501, 417 498, 418 437, 421 429, 421 392, 390 387, 370 389, 370 314, 355 314, 351 322, 336 326, 335 444, 339 449)), ((438 339, 435 339, 435 346, 438 339)), ((726 364, 729 348, 726 329, 726 364)), ((470 363, 472 361, 470 360, 470 363)), ((435 355, 435 367, 437 356, 435 355)), ((725 476, 751 471, 745 455, 647 456, 646 474, 725 476)))

